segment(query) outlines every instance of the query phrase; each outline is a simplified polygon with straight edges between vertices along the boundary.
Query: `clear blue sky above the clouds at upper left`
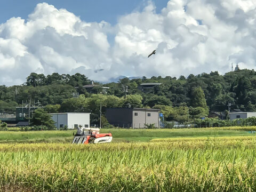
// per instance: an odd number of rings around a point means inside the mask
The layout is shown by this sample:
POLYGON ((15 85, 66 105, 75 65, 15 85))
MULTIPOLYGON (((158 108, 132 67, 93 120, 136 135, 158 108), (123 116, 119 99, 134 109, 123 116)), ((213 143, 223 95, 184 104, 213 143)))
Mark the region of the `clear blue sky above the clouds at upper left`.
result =
MULTIPOLYGON (((116 24, 120 15, 129 14, 134 10, 141 11, 147 1, 138 0, 3 0, 0 3, 0 23, 12 17, 27 19, 38 3, 48 3, 57 9, 64 8, 80 16, 86 22, 100 22, 105 20, 112 25, 116 24)), ((154 0, 156 12, 159 13, 166 7, 168 0, 154 0)))

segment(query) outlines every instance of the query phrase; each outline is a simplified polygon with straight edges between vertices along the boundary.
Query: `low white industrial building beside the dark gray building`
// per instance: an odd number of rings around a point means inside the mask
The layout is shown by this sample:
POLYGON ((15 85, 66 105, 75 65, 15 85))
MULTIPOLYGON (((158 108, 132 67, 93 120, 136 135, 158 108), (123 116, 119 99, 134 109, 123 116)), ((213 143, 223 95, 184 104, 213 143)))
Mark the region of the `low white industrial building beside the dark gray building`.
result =
POLYGON ((82 127, 90 127, 90 113, 51 113, 57 129, 63 128, 65 125, 68 129, 77 129, 79 125, 82 127))

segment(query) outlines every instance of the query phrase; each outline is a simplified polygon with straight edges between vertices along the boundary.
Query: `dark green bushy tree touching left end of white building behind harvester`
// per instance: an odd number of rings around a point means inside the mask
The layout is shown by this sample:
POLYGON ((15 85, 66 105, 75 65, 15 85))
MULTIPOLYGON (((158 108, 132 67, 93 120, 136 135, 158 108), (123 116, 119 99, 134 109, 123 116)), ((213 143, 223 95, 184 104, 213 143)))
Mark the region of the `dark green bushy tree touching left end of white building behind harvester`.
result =
POLYGON ((47 114, 43 108, 38 108, 33 112, 31 123, 33 125, 45 125, 49 130, 53 130, 55 128, 55 122, 52 120, 52 116, 47 114))

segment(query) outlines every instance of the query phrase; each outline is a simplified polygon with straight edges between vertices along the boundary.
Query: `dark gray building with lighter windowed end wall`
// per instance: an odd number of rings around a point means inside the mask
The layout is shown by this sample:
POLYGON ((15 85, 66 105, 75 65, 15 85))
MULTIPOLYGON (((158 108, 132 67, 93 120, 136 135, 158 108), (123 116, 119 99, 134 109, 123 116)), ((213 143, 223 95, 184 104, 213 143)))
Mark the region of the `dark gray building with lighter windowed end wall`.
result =
POLYGON ((146 124, 159 127, 159 109, 109 108, 106 118, 111 125, 118 127, 145 128, 146 124))

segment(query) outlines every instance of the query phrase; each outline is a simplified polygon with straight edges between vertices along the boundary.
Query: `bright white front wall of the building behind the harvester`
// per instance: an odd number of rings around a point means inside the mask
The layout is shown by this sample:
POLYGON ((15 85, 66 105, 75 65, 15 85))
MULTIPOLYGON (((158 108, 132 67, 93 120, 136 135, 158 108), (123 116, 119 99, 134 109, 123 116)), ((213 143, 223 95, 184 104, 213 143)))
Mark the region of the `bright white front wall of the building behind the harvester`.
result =
POLYGON ((68 129, 74 129, 75 124, 90 127, 90 113, 68 113, 68 129))

